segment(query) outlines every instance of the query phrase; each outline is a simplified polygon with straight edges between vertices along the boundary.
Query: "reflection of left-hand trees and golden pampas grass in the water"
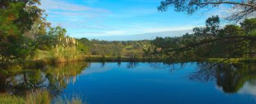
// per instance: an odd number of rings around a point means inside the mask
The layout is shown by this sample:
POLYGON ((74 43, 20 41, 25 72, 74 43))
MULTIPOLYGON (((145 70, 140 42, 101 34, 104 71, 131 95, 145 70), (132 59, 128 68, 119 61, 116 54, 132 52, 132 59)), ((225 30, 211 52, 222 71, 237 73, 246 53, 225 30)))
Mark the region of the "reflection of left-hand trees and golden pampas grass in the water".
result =
POLYGON ((52 94, 59 94, 67 84, 74 84, 86 67, 88 63, 84 62, 60 63, 42 69, 24 69, 15 75, 0 75, 1 91, 24 94, 28 90, 47 88, 52 94))

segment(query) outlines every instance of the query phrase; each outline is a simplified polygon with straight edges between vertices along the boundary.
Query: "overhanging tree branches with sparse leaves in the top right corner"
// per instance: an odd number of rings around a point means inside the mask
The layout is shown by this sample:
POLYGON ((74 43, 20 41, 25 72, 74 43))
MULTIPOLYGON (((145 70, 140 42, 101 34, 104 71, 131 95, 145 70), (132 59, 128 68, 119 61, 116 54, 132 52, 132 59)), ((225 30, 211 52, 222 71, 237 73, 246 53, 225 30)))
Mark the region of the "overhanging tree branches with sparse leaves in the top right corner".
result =
POLYGON ((255 16, 256 11, 256 1, 246 0, 246 1, 233 1, 233 0, 164 0, 161 1, 161 5, 158 6, 159 11, 168 10, 169 6, 173 6, 175 11, 187 12, 188 14, 193 14, 195 11, 203 8, 216 8, 220 5, 228 5, 226 7, 231 8, 232 13, 227 17, 228 20, 239 22, 244 18, 250 16, 255 16))

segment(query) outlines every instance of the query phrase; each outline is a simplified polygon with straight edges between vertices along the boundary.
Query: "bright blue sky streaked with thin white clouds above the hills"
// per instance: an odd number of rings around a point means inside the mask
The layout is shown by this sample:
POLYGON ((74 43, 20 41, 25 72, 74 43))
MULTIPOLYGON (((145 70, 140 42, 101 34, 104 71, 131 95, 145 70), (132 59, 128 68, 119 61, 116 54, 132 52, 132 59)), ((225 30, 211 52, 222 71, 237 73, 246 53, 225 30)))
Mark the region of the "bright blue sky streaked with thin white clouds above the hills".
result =
MULTIPOLYGON (((52 26, 67 29, 68 36, 125 36, 188 30, 203 26, 214 13, 187 15, 170 8, 158 12, 161 0, 41 0, 52 26)), ((213 11, 214 12, 214 11, 213 11)))

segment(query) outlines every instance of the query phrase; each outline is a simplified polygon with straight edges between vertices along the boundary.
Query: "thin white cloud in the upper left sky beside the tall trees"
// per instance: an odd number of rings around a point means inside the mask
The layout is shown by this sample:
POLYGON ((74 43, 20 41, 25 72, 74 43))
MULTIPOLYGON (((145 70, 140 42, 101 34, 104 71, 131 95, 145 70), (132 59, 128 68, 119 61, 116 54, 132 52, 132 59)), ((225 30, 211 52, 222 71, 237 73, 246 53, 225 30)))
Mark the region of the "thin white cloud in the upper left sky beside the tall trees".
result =
MULTIPOLYGON (((86 3, 95 3, 97 0, 88 0, 86 3)), ((92 21, 102 18, 108 10, 92 8, 84 4, 68 3, 61 0, 42 0, 40 8, 46 10, 47 20, 52 26, 60 25, 68 32, 72 29, 109 29, 105 26, 92 25, 92 21)))

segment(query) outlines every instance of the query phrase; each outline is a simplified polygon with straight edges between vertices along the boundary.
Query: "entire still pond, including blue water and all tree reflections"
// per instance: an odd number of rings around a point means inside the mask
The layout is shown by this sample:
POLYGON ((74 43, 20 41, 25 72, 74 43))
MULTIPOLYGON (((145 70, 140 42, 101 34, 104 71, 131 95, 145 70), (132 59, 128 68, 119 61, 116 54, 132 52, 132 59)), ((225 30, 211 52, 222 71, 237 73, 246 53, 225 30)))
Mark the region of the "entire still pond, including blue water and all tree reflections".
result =
POLYGON ((88 104, 256 103, 255 63, 63 63, 0 74, 0 91, 48 89, 88 104), (211 67, 211 68, 209 68, 211 67))

